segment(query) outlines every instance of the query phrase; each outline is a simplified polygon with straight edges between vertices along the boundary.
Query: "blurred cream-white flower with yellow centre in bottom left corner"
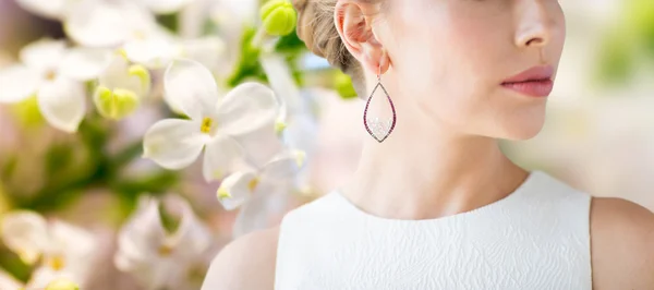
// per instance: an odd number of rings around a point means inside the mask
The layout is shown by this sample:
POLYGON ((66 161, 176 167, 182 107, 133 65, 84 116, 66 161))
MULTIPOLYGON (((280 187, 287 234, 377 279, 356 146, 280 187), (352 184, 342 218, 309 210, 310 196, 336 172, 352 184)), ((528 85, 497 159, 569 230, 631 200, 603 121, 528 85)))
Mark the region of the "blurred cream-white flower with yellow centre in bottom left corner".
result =
POLYGON ((25 263, 38 265, 27 289, 43 289, 59 278, 83 286, 96 262, 93 234, 62 221, 48 222, 33 212, 4 215, 2 240, 25 263))

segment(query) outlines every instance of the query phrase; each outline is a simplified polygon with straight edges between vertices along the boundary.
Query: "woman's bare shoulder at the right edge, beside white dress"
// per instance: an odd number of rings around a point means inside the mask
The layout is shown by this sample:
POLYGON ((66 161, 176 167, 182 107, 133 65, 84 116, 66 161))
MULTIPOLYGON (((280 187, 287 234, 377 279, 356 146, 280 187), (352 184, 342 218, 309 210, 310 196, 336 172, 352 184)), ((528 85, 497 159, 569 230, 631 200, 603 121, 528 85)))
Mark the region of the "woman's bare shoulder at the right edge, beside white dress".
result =
POLYGON ((654 214, 622 200, 593 197, 594 289, 654 289, 654 214))

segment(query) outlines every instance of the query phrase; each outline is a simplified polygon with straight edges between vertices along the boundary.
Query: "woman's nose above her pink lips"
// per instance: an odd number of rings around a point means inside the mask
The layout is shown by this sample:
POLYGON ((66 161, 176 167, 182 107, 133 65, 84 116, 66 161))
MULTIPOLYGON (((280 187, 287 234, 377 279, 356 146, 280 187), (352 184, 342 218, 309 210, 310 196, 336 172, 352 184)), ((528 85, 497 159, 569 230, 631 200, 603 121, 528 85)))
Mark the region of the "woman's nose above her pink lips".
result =
POLYGON ((516 1, 516 46, 542 48, 549 44, 555 21, 553 13, 543 4, 546 1, 548 0, 516 1))

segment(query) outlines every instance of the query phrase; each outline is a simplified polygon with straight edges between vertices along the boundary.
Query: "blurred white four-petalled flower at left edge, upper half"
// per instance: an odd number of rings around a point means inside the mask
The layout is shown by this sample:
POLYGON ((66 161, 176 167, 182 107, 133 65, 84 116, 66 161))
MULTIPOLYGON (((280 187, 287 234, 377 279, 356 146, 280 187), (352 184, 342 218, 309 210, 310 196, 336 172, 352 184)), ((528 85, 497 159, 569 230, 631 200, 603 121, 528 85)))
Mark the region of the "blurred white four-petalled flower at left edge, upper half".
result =
POLYGON ((82 81, 96 77, 109 55, 41 39, 23 48, 21 60, 22 64, 0 71, 0 102, 16 102, 36 94, 40 112, 52 126, 76 131, 86 107, 82 81))

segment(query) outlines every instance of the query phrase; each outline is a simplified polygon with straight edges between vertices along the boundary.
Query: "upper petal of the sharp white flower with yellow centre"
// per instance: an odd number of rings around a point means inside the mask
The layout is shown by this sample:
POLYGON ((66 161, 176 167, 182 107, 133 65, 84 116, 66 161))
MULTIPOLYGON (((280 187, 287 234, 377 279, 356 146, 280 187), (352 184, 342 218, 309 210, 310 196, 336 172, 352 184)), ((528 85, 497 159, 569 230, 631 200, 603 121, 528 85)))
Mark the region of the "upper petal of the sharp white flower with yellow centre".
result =
POLYGON ((194 120, 215 116, 218 86, 209 70, 196 61, 173 61, 166 70, 165 98, 173 110, 181 110, 194 120))

